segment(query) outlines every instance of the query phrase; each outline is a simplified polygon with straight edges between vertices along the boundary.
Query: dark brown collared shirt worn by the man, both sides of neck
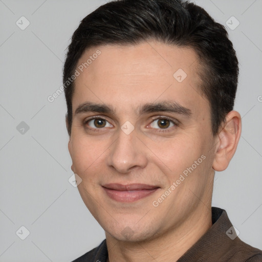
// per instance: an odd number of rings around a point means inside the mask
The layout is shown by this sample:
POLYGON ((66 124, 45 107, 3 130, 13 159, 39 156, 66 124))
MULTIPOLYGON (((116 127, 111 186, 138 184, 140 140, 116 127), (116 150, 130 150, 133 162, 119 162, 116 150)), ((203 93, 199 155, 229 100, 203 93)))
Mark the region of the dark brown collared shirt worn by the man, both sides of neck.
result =
MULTIPOLYGON (((238 238, 227 212, 212 207, 212 227, 177 262, 262 262, 262 251, 238 238)), ((106 262, 106 241, 73 262, 106 262)))

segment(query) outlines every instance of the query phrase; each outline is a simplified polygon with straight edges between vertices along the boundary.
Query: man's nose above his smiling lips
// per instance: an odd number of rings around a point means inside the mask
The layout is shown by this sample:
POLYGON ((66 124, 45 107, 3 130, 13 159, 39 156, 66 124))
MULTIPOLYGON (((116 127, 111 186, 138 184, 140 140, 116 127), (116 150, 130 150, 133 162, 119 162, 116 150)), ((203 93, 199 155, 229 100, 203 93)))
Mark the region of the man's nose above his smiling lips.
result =
POLYGON ((128 173, 135 168, 144 168, 147 161, 145 148, 137 137, 136 130, 129 135, 119 130, 118 138, 110 147, 107 165, 119 173, 128 173))

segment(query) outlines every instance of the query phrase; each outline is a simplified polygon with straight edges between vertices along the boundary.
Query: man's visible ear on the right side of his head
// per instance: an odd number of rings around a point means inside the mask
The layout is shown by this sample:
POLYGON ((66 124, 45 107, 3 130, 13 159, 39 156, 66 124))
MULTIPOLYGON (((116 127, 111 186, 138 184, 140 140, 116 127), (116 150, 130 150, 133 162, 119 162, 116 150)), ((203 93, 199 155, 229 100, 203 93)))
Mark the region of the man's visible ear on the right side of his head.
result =
POLYGON ((225 170, 235 154, 241 136, 241 116, 236 111, 231 111, 226 116, 226 121, 216 139, 216 149, 213 169, 225 170))

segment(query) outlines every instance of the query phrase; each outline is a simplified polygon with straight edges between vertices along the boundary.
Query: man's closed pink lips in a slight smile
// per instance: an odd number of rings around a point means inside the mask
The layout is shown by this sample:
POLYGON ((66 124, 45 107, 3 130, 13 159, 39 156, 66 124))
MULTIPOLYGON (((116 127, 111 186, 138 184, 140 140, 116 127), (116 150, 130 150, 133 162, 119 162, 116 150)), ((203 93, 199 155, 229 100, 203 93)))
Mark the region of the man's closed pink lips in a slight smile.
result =
POLYGON ((160 187, 147 184, 106 184, 103 185, 105 193, 118 202, 135 202, 156 192, 160 187))

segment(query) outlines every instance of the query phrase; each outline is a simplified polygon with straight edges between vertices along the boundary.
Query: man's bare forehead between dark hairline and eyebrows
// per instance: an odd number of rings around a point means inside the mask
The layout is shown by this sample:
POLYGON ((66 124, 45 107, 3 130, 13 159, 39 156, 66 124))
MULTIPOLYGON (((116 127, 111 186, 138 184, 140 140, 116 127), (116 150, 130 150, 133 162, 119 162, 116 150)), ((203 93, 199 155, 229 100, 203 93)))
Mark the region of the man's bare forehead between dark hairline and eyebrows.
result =
POLYGON ((170 98, 182 105, 203 102, 199 65, 192 48, 157 41, 93 47, 83 53, 76 67, 73 111, 86 100, 122 104, 124 110, 128 105, 135 108, 170 98))

